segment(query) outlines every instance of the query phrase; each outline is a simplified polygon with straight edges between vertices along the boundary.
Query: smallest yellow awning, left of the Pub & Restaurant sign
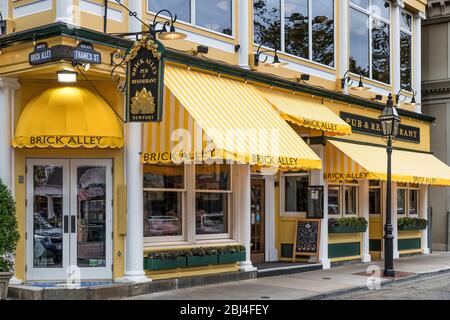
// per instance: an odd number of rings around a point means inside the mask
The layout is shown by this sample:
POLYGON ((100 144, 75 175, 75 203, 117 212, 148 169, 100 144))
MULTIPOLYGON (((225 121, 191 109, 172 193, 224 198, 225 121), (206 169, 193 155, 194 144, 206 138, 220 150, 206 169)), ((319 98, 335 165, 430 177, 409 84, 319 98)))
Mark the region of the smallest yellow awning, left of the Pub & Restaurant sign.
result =
POLYGON ((281 116, 299 126, 322 130, 326 135, 346 135, 352 128, 317 99, 258 87, 281 116))

